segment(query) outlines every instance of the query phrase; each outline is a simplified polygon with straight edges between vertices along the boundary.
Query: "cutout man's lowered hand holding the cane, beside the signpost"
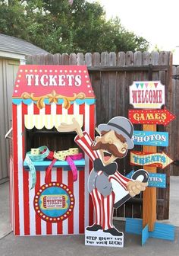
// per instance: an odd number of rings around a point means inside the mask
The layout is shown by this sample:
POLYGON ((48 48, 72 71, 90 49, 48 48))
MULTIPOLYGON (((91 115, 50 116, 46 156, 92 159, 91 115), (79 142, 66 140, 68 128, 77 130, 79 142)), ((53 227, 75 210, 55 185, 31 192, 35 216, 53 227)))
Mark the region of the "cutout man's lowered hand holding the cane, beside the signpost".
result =
POLYGON ((140 194, 141 191, 144 191, 148 185, 148 182, 141 181, 128 181, 127 190, 131 197, 135 197, 137 194, 140 194))

